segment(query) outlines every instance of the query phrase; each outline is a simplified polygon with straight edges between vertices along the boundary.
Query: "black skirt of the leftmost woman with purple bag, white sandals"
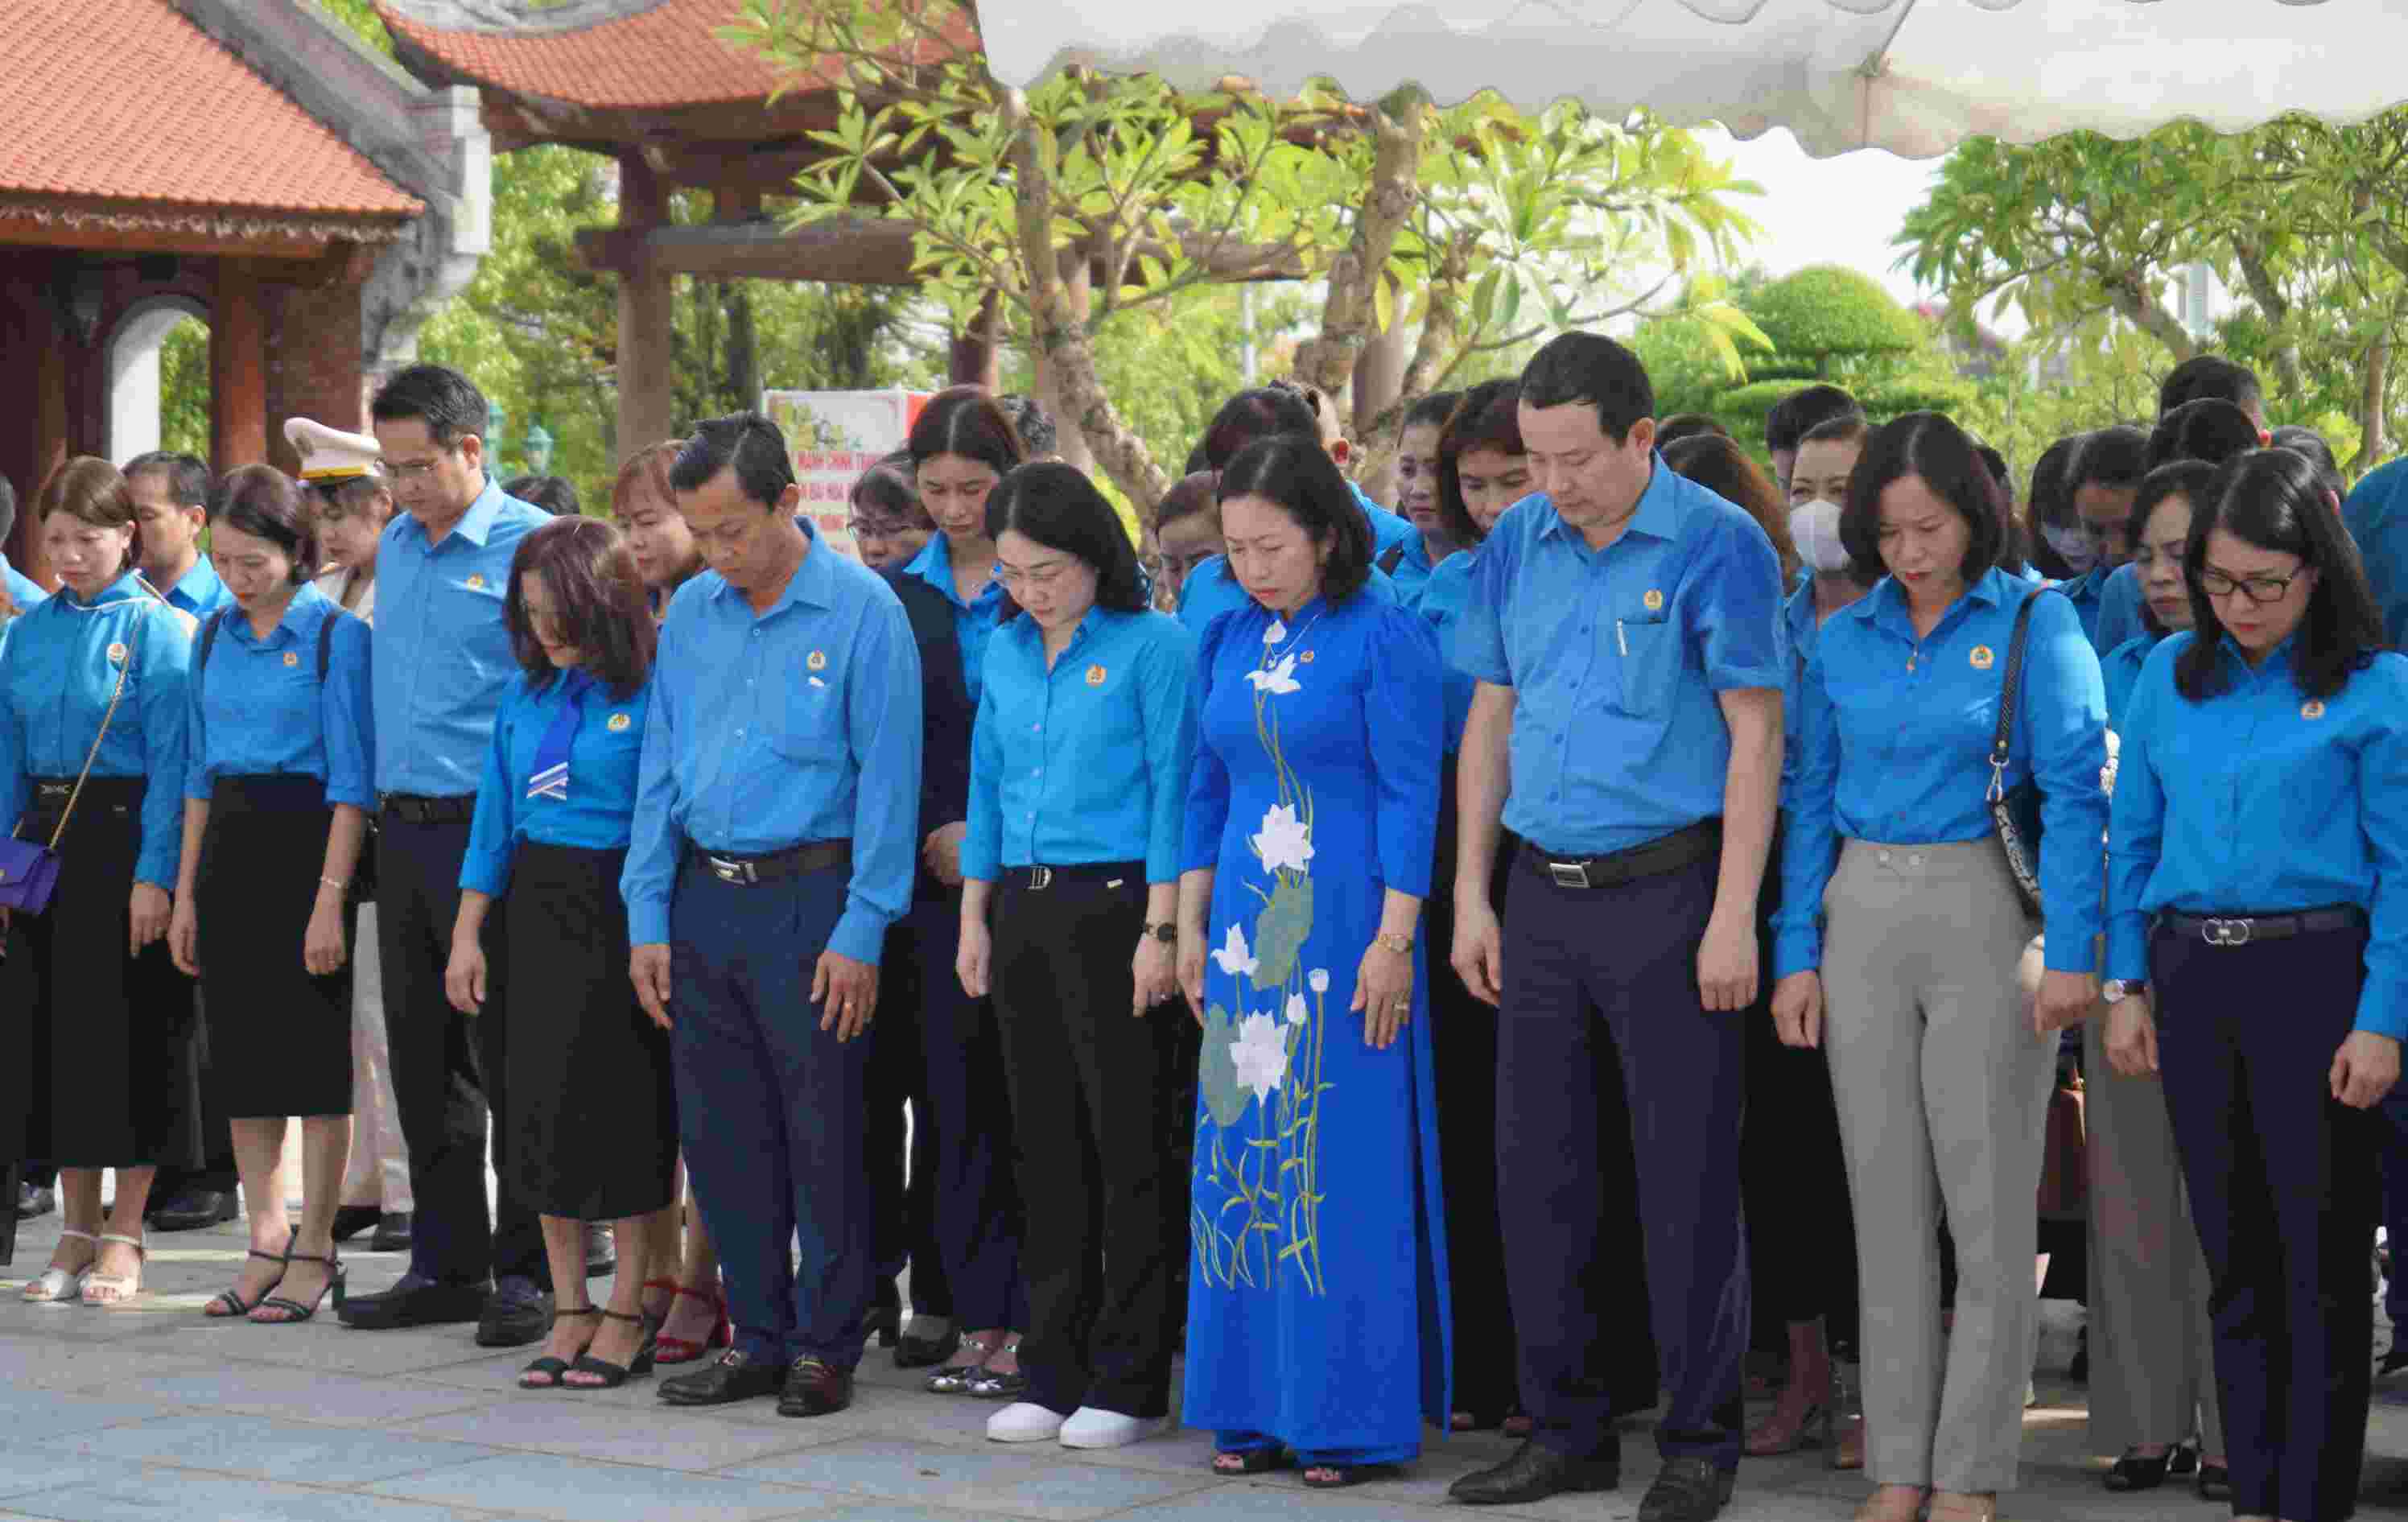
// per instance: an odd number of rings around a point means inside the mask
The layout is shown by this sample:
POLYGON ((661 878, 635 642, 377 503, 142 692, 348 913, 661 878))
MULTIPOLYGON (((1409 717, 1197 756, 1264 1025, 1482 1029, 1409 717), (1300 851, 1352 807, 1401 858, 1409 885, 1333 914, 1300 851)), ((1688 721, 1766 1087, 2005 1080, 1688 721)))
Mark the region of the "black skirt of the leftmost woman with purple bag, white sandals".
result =
MULTIPOLYGON (((166 937, 125 954, 142 795, 142 778, 87 780, 58 843, 51 908, 12 915, 24 937, 12 937, 22 951, 7 958, 7 1007, 31 1016, 19 1026, 31 1076, 17 1110, 22 1156, 60 1168, 200 1168, 202 1158, 193 980, 166 937)), ((24 838, 48 840, 55 819, 36 792, 24 838)))

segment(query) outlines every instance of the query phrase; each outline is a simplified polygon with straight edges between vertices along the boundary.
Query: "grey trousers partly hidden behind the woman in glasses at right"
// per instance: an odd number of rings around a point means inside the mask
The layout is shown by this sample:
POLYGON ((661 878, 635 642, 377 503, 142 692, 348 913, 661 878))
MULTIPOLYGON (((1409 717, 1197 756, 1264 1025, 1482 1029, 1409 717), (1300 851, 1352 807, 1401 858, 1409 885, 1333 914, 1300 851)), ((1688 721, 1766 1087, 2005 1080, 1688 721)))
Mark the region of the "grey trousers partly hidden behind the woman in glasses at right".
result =
POLYGON ((2090 1137, 2090 1450, 2186 1443, 2225 1452, 2199 1250, 2158 1074, 2107 1062, 2107 1016, 2083 1026, 2090 1137))

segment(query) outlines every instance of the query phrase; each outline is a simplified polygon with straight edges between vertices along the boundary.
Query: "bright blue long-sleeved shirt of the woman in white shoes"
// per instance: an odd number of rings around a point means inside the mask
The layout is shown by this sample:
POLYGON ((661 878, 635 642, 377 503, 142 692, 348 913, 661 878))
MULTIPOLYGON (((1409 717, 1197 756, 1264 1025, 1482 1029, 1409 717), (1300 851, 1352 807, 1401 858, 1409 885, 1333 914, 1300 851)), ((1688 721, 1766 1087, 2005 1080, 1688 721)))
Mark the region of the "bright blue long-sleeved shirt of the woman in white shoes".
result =
POLYGON ((1197 754, 1197 641, 1170 614, 1088 609, 1045 669, 1028 617, 987 643, 970 737, 961 874, 1146 865, 1180 879, 1180 821, 1197 754))

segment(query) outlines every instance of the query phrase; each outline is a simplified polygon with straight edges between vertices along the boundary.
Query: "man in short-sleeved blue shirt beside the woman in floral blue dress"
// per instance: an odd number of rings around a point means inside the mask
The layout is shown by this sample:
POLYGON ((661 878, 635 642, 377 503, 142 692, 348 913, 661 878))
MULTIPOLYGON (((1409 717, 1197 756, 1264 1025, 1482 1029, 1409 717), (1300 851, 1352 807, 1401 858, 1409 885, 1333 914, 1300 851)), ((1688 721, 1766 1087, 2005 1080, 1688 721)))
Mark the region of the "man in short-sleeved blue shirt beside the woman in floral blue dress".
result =
POLYGON ((1597 1086, 1618 1050, 1666 1370, 1640 1522, 1707 1522, 1741 1443, 1748 1269, 1739 1113, 1755 893, 1782 766, 1780 561, 1748 513, 1654 453, 1654 390, 1568 332, 1522 371, 1539 496, 1474 561, 1454 665, 1479 679, 1459 771, 1454 966, 1498 1009, 1498 1209, 1522 1404, 1539 1430, 1454 1483, 1471 1505, 1621 1479, 1597 1264, 1597 1086), (1510 802, 1507 802, 1510 797, 1510 802), (1498 826, 1524 845, 1510 930, 1498 826))

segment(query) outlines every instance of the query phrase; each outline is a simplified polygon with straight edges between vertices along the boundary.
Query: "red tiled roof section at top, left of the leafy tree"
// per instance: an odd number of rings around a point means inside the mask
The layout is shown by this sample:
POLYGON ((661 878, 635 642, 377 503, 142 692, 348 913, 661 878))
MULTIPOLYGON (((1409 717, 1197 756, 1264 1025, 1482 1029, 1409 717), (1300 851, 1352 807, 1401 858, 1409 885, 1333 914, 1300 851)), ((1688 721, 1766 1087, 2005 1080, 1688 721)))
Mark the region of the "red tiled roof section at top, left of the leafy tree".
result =
MULTIPOLYGON (((0 0, 5 2, 5 0, 0 0)), ((445 31, 376 0, 397 39, 479 84, 597 111, 759 101, 778 72, 718 29, 739 0, 662 0, 653 10, 573 31, 445 31)))

